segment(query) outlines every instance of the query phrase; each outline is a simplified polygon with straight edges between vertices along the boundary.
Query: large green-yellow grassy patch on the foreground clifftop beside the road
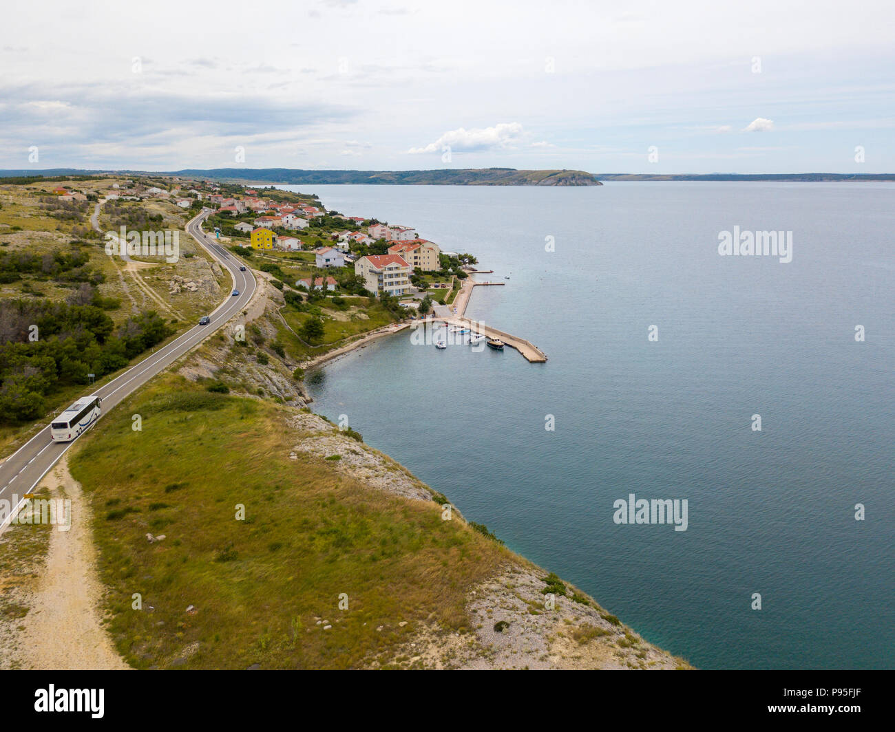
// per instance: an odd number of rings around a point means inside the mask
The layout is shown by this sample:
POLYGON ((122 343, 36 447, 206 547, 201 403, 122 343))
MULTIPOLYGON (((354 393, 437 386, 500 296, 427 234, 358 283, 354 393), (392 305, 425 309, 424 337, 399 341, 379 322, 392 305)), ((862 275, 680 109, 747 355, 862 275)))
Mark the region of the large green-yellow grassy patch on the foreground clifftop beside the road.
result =
POLYGON ((166 668, 199 643, 179 663, 356 668, 393 660, 421 622, 470 626, 466 592, 507 550, 462 519, 442 521, 435 502, 370 489, 337 462, 289 460, 301 438, 286 428, 291 413, 166 375, 81 438, 72 474, 96 509, 108 627, 133 666, 166 668), (116 499, 132 513, 109 521, 116 499), (158 519, 166 539, 150 544, 158 519))

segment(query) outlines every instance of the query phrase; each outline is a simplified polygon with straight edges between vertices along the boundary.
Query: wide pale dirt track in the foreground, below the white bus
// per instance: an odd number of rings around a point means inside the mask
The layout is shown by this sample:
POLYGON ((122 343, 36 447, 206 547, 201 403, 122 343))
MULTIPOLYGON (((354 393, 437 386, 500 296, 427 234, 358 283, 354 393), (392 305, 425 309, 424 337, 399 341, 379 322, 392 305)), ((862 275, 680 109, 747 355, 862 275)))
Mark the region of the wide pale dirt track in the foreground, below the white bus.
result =
MULTIPOLYGON (((28 615, 16 629, 19 668, 129 668, 102 625, 102 586, 90 533, 90 506, 63 458, 42 485, 53 498, 71 498, 72 526, 52 529, 47 565, 30 592, 28 615)), ((16 530, 28 530, 18 526, 16 530)))

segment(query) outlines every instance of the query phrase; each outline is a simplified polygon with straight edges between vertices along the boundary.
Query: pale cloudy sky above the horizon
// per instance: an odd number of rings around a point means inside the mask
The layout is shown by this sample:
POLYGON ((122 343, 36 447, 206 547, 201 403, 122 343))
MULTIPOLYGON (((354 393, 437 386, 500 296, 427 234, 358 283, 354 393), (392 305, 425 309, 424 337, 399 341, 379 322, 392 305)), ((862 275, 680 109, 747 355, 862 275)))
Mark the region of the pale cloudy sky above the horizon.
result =
POLYGON ((895 3, 4 7, 0 168, 895 173, 895 3))

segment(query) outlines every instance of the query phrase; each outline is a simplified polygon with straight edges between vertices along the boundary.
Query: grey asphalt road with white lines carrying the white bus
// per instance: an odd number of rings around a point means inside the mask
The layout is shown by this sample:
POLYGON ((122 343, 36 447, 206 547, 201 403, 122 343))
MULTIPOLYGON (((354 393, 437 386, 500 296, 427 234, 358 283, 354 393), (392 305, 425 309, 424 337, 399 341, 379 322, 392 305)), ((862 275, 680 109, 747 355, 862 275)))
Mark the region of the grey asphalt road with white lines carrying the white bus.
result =
MULTIPOLYGON (((251 271, 248 269, 245 272, 240 272, 239 260, 234 259, 229 251, 215 242, 213 237, 202 232, 200 223, 206 217, 208 217, 208 213, 203 212, 193 218, 187 224, 186 230, 193 239, 209 251, 212 257, 230 270, 235 288, 239 290, 239 296, 234 297, 230 294, 232 288, 228 288, 227 299, 217 307, 217 310, 209 313, 211 322, 208 325, 194 326, 109 383, 98 387, 95 392, 85 390, 83 396, 98 394, 102 397, 103 414, 121 402, 125 396, 132 394, 133 391, 152 379, 159 371, 175 362, 183 353, 200 344, 202 340, 221 328, 236 313, 243 311, 251 300, 251 296, 255 292, 255 278, 252 277, 251 271)), ((65 406, 67 407, 68 404, 65 406)), ((47 421, 47 426, 0 464, 0 500, 6 500, 11 505, 18 506, 23 500, 22 496, 30 493, 38 485, 49 469, 76 441, 53 442, 50 438, 49 421, 47 421)), ((4 519, 4 522, 0 523, 0 531, 2 531, 4 523, 8 523, 9 516, 4 516, 4 519)))

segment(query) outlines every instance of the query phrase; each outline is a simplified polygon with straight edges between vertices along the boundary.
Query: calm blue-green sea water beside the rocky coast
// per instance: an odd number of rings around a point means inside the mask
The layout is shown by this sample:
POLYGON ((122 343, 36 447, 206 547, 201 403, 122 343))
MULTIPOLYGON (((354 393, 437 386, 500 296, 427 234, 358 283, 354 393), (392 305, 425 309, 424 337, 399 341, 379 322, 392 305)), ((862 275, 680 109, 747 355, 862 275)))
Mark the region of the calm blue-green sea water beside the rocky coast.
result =
POLYGON ((550 358, 394 336, 316 411, 699 667, 895 666, 895 185, 293 190, 472 251, 507 285, 467 314, 550 358), (792 261, 719 256, 734 226, 792 261), (686 498, 686 532, 614 523, 630 493, 686 498))

